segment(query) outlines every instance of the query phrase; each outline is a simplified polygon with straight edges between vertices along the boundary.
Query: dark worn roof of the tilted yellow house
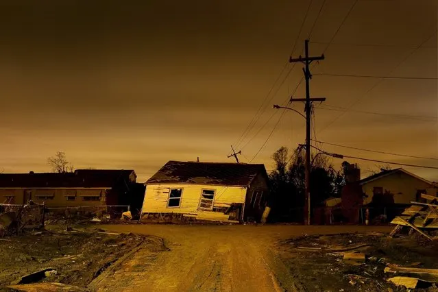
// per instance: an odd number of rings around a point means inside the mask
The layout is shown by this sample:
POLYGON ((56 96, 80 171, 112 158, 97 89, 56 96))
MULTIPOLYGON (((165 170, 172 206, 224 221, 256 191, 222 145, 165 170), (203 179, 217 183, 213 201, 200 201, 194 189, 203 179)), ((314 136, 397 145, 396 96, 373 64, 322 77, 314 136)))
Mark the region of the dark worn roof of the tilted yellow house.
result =
POLYGON ((265 165, 169 161, 146 184, 219 184, 247 186, 265 165))

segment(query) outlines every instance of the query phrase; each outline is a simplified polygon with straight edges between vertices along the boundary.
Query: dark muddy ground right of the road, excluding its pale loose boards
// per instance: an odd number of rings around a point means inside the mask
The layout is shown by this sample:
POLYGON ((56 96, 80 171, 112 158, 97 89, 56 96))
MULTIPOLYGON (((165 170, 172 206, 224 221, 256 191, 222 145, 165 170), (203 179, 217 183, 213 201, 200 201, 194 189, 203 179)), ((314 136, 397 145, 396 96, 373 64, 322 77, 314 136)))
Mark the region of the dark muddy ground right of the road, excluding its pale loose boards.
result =
MULTIPOLYGON (((387 263, 404 267, 438 269, 437 243, 404 236, 391 239, 385 234, 336 234, 300 236, 281 241, 278 252, 295 281, 307 291, 406 291, 387 282, 393 276, 414 276, 435 282, 426 275, 385 273, 387 263), (342 252, 333 250, 366 244, 349 252, 365 254, 365 263, 348 263, 342 252), (308 250, 301 247, 310 247, 308 250), (318 250, 320 249, 320 250, 318 250)), ((429 289, 411 291, 438 291, 429 289)))

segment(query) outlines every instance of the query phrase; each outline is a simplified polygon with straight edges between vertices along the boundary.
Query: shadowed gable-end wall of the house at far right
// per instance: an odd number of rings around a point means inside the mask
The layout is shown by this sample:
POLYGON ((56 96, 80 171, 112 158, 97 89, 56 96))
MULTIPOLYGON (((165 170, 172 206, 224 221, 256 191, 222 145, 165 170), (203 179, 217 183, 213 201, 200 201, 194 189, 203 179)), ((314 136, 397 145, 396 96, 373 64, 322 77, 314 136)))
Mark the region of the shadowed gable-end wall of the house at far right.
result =
POLYGON ((368 196, 365 197, 364 204, 372 202, 374 187, 382 187, 384 193, 392 193, 396 204, 411 204, 411 201, 416 200, 417 190, 426 190, 433 186, 399 171, 363 184, 362 191, 368 196))

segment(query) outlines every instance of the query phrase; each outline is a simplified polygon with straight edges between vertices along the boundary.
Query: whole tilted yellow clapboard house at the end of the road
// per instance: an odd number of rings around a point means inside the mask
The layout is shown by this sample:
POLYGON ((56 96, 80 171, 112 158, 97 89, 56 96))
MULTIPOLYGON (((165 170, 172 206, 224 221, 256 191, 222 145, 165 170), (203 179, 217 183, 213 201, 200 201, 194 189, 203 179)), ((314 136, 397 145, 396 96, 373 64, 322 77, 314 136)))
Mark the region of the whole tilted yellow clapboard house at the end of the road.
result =
POLYGON ((265 166, 243 163, 169 161, 145 184, 142 213, 148 216, 260 221, 269 195, 265 166))

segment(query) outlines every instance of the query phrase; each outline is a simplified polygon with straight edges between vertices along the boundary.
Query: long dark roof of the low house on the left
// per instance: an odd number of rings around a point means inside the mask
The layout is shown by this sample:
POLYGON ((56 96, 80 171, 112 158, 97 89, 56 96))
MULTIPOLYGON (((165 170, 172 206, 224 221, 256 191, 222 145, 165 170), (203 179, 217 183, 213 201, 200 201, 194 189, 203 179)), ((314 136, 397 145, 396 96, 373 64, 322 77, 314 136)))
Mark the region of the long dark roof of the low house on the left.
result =
POLYGON ((0 173, 0 188, 110 188, 119 178, 127 180, 133 172, 123 169, 77 169, 73 173, 0 173))

